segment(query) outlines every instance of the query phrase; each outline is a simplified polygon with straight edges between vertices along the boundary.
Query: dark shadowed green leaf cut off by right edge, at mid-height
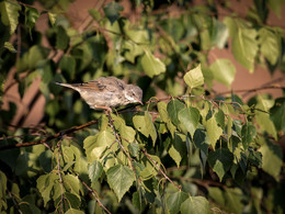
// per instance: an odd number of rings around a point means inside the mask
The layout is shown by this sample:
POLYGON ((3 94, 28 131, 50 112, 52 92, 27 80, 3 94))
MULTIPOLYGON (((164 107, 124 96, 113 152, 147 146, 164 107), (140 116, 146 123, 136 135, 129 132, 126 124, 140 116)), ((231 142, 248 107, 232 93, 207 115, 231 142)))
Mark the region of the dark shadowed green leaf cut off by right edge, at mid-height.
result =
POLYGON ((270 110, 270 119, 277 131, 285 133, 285 98, 275 100, 274 106, 270 110))

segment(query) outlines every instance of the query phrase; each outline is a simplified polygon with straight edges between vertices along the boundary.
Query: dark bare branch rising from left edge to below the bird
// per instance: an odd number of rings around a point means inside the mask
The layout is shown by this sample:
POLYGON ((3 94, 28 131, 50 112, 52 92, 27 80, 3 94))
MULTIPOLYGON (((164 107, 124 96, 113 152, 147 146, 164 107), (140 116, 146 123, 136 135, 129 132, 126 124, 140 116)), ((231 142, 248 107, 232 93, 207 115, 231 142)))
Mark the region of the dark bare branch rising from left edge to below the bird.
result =
POLYGON ((55 138, 62 137, 65 135, 75 133, 77 131, 83 129, 83 128, 86 128, 86 127, 88 127, 90 125, 93 125, 95 123, 98 123, 98 121, 90 121, 90 122, 84 123, 82 125, 73 126, 73 127, 71 127, 69 129, 61 131, 59 133, 56 133, 54 135, 50 135, 50 136, 48 136, 48 137, 46 137, 44 139, 39 139, 39 140, 36 140, 36 142, 27 142, 27 143, 3 145, 3 146, 0 146, 0 150, 11 149, 11 148, 19 148, 19 147, 34 146, 34 145, 38 145, 38 144, 46 144, 46 143, 50 142, 52 139, 55 139, 55 138))

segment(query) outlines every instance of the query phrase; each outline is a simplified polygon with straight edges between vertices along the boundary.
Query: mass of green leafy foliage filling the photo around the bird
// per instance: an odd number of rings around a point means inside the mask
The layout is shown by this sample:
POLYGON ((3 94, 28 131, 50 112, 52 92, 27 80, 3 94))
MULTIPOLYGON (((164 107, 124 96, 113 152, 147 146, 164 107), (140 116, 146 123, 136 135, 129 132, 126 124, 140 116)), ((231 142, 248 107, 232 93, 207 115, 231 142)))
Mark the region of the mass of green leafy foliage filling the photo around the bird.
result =
MULTIPOLYGON (((187 8, 184 2, 187 10, 172 16, 152 14, 151 1, 144 1, 136 23, 121 16, 123 5, 112 2, 90 9, 81 31, 64 15, 68 1, 48 2, 42 2, 42 11, 10 0, 0 3, 0 67, 7 70, 0 79, 15 67, 23 97, 41 77, 49 134, 94 117, 98 123, 71 138, 62 134, 49 144, 0 151, 0 211, 284 211, 284 185, 278 183, 283 158, 275 144, 285 132, 284 98, 256 95, 248 103, 237 94, 209 99, 203 87, 212 92, 216 80, 230 88, 235 79, 229 59, 208 65, 214 47, 230 45, 250 72, 255 63, 271 72, 284 69, 283 30, 265 24, 269 7, 280 14, 282 1, 254 1, 247 18, 223 22, 210 3, 187 8), (46 14, 49 26, 41 34, 34 25, 46 14), (12 40, 14 32, 21 42, 12 40), (48 47, 42 44, 44 36, 48 47), (101 76, 137 82, 148 104, 139 112, 93 113, 78 94, 62 93, 52 83, 101 76), (158 89, 179 98, 150 99, 158 89)), ((22 127, 8 129, 15 109, 10 104, 0 111, 1 135, 22 136, 3 137, 1 145, 47 137, 22 127)))

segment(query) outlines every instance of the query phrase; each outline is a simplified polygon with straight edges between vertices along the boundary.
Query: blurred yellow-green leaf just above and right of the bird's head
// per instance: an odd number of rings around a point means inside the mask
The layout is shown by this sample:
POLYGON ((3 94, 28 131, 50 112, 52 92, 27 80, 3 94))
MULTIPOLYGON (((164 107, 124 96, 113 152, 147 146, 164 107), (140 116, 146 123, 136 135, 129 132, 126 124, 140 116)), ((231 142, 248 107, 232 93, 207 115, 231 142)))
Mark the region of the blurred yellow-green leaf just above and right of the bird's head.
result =
POLYGON ((145 50, 145 55, 141 58, 141 67, 150 78, 167 70, 166 65, 159 58, 156 58, 148 49, 145 50))

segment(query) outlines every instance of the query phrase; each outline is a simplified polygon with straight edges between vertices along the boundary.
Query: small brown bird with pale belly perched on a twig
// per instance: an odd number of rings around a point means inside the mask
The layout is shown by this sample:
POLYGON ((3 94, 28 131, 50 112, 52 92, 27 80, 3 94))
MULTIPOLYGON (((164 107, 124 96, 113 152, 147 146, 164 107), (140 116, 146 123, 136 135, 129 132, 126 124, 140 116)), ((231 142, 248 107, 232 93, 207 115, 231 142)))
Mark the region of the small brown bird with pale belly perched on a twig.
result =
POLYGON ((115 77, 101 77, 84 83, 55 83, 77 90, 91 109, 112 112, 111 108, 137 102, 142 104, 142 90, 115 77))

